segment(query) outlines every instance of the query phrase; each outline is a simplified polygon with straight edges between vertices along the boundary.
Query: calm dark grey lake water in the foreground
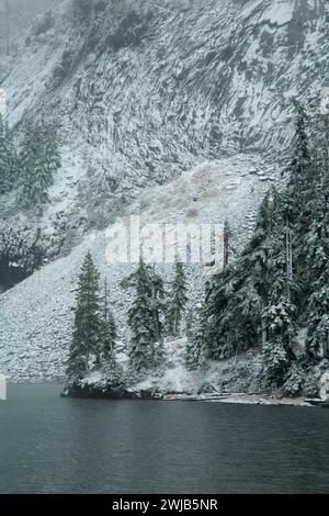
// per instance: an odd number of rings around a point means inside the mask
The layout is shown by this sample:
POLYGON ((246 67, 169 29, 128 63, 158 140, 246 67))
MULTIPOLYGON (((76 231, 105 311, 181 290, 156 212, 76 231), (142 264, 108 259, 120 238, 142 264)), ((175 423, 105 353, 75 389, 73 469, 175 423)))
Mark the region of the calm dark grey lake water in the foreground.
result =
POLYGON ((329 410, 8 391, 0 493, 329 493, 329 410))

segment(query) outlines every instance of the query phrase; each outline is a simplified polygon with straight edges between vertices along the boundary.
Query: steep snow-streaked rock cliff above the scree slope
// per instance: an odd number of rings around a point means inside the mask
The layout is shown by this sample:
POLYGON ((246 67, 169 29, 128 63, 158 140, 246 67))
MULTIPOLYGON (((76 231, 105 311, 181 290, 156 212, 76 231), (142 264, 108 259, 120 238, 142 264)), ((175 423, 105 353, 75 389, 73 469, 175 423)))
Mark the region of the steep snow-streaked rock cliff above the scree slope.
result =
POLYGON ((65 4, 2 85, 10 120, 55 117, 98 197, 284 148, 290 97, 319 96, 328 77, 326 3, 93 0, 84 19, 65 4))

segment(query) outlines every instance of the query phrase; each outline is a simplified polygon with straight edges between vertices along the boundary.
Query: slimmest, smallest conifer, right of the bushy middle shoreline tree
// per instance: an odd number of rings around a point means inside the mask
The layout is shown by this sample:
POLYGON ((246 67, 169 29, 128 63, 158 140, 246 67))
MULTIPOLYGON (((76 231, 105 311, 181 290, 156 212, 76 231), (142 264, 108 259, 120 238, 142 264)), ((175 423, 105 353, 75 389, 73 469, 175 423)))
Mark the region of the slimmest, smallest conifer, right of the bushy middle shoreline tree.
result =
POLYGON ((167 311, 167 333, 168 335, 178 336, 180 334, 181 324, 185 306, 188 303, 188 285, 183 263, 175 262, 174 278, 172 281, 170 301, 167 311))

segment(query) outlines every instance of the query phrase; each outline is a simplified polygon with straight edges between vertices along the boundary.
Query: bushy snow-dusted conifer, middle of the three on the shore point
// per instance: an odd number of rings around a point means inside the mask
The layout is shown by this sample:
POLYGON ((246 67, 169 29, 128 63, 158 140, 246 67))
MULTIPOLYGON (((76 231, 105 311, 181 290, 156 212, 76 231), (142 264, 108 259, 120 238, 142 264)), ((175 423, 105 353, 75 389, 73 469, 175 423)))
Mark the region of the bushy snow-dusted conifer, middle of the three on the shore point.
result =
POLYGON ((135 290, 128 326, 132 332, 129 358, 136 371, 157 366, 161 356, 158 294, 162 284, 161 278, 143 260, 138 269, 122 282, 123 288, 135 290))

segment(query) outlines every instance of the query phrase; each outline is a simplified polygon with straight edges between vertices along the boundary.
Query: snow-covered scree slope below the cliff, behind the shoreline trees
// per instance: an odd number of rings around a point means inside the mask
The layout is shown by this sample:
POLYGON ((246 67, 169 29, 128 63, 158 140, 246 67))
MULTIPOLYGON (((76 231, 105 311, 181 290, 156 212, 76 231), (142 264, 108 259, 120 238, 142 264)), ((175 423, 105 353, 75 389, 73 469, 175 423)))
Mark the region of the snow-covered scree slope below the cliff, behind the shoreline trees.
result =
MULTIPOLYGON (((236 235, 235 245, 239 245, 253 226, 258 200, 273 180, 273 168, 264 170, 259 161, 258 156, 238 155, 200 164, 167 186, 146 189, 127 215, 139 214, 141 224, 218 223, 228 217, 236 235)), ((92 250, 102 277, 107 278, 122 346, 127 346, 129 294, 122 291, 120 282, 132 267, 106 262, 106 231, 86 235, 83 243, 69 256, 44 266, 0 296, 0 370, 11 380, 42 381, 63 377, 76 280, 88 249, 92 250)), ((159 271, 164 279, 170 279, 170 266, 159 266, 159 271)), ((193 267, 189 281, 193 303, 203 283, 201 266, 193 267)), ((169 368, 168 374, 166 381, 177 382, 177 389, 180 382, 186 385, 192 381, 182 367, 173 371, 169 368)))

